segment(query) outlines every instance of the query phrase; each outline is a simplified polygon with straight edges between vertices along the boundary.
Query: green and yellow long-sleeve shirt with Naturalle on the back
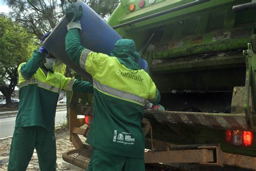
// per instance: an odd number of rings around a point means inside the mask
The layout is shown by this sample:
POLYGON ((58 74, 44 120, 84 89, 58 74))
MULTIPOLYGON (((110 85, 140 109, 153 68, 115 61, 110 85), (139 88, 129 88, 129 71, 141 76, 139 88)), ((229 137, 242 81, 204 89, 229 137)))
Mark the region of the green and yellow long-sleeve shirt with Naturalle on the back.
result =
POLYGON ((86 142, 106 153, 144 158, 143 107, 146 100, 160 100, 149 74, 130 70, 116 57, 85 49, 77 29, 66 35, 66 52, 93 78, 93 118, 86 142))

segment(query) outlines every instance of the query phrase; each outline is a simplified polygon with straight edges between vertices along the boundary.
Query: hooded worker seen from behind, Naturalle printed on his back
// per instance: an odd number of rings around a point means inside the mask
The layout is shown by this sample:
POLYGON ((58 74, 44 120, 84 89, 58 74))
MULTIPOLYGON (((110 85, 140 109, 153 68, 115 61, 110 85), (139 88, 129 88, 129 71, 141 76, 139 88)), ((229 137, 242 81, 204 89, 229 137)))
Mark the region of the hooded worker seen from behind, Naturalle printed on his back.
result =
MULTIPOLYGON (((93 78, 93 117, 86 142, 93 147, 87 171, 145 170, 145 138, 141 126, 146 100, 158 104, 159 91, 138 65, 133 40, 122 39, 109 55, 80 43, 82 6, 70 4, 66 52, 93 78)), ((90 24, 90 23, 88 23, 90 24)))

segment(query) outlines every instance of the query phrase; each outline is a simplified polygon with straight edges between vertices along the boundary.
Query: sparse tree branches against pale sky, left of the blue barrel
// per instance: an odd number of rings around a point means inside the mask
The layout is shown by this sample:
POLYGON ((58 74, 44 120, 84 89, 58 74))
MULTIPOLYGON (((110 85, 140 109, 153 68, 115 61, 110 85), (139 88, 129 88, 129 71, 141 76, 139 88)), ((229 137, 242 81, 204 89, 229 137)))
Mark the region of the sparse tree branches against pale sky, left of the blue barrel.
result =
POLYGON ((57 0, 5 1, 13 10, 10 16, 38 39, 53 29, 63 16, 57 0))

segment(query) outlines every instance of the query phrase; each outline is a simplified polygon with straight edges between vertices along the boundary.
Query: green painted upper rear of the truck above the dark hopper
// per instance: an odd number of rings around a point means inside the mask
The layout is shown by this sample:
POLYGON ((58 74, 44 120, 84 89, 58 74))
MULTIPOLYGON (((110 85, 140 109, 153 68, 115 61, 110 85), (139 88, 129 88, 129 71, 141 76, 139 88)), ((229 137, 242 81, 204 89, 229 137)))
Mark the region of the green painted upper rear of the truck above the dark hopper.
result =
MULTIPOLYGON (((109 24, 115 26, 193 1, 145 2, 144 8, 139 8, 139 1, 122 1, 122 5, 111 15, 109 24), (132 12, 128 10, 131 3, 136 5, 136 10, 132 12)), ((245 49, 254 33, 256 10, 234 13, 232 6, 248 2, 210 1, 124 26, 116 31, 125 38, 134 39, 137 50, 143 47, 152 33, 156 33, 150 42, 156 46, 153 59, 245 49)))

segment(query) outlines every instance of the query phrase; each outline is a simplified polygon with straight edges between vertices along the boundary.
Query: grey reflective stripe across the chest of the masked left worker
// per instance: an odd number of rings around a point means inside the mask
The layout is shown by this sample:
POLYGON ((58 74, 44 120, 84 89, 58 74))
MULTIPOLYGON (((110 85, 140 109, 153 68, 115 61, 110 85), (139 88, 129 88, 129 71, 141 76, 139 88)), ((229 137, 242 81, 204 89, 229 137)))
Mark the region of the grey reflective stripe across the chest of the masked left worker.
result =
POLYGON ((41 81, 38 81, 36 78, 31 78, 29 80, 26 80, 26 81, 20 83, 19 88, 22 88, 24 86, 28 86, 28 85, 31 85, 31 84, 37 84, 38 87, 44 88, 46 90, 49 90, 49 91, 52 91, 52 92, 55 92, 55 93, 60 93, 60 91, 61 91, 59 88, 56 88, 56 87, 53 87, 49 84, 45 84, 41 81))

